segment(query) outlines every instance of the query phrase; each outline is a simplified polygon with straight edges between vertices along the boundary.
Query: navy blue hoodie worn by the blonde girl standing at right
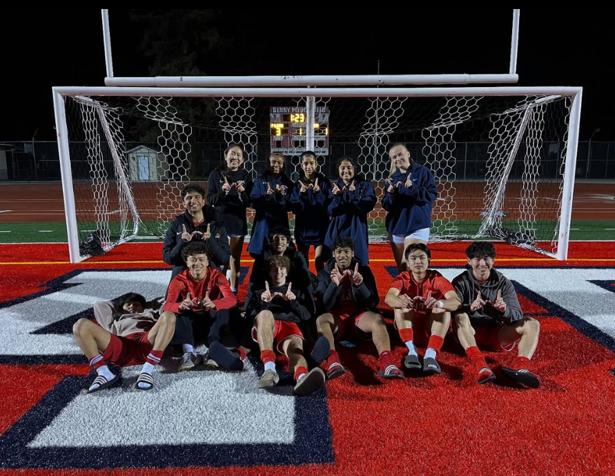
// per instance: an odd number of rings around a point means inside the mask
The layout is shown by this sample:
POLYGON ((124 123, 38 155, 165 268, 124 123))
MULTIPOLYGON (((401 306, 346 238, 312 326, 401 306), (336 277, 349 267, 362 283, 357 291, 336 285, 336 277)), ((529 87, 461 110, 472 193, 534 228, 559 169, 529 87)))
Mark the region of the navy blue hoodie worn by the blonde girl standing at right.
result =
POLYGON ((393 235, 408 236, 422 228, 431 228, 431 211, 438 198, 438 188, 433 175, 427 167, 413 162, 406 173, 397 169, 391 177, 393 186, 399 186, 389 193, 385 188, 382 208, 387 210, 384 221, 387 231, 393 235), (411 174, 412 187, 404 185, 411 174))

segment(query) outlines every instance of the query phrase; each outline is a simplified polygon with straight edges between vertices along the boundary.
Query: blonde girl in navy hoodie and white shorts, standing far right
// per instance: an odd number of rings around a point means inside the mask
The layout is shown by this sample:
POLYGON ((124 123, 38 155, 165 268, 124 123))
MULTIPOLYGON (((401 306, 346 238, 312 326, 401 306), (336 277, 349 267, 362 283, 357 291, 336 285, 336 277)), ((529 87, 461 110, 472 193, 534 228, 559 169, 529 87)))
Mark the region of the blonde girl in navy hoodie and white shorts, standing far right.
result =
POLYGON ((438 188, 427 167, 413 162, 400 142, 389 147, 391 175, 387 179, 382 208, 387 210, 385 225, 398 271, 405 271, 404 249, 411 243, 429 241, 431 210, 438 188))

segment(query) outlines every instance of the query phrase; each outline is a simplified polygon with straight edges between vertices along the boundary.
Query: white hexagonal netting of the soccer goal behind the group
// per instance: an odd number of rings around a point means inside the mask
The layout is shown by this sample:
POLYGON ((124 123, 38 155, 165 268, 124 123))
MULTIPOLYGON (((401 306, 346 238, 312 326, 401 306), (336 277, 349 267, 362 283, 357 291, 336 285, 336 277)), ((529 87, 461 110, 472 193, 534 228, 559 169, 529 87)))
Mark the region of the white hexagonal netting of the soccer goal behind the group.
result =
POLYGON ((387 145, 404 142, 438 184, 431 240, 500 238, 551 254, 570 105, 560 96, 315 97, 311 104, 305 97, 68 98, 79 240, 96 233, 108 249, 133 236, 164 236, 183 211, 179 191, 189 182, 206 187, 231 142, 244 147, 253 177, 272 150, 282 150, 286 173, 298 180, 312 126, 324 175, 335 180, 338 158, 351 156, 373 182, 371 241, 386 237, 387 145), (281 111, 298 115, 288 122, 281 111), (274 117, 287 122, 272 124, 274 117))

